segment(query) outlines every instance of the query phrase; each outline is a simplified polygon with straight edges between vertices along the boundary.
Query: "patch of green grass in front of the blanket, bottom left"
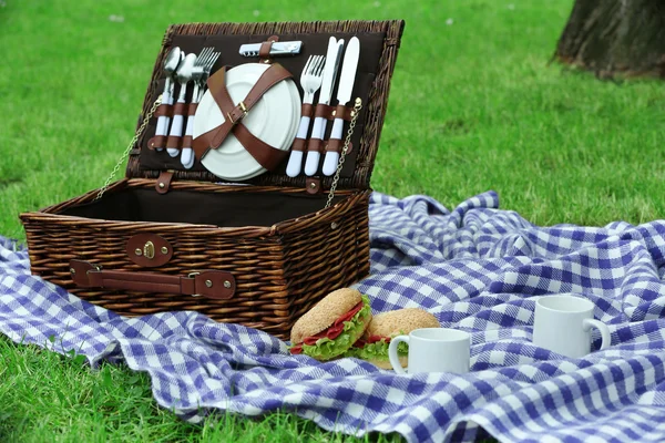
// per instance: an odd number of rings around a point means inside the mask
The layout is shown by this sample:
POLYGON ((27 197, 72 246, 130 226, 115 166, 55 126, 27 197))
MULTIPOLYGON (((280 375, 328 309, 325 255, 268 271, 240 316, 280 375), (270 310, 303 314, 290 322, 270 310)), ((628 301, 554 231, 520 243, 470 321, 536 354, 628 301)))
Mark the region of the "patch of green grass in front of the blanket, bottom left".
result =
MULTIPOLYGON (((293 414, 260 420, 212 415, 187 424, 152 400, 150 378, 84 358, 65 358, 0 338, 0 441, 10 442, 342 442, 293 414)), ((356 439, 355 439, 356 440, 356 439)), ((397 442, 398 436, 360 441, 397 442)))

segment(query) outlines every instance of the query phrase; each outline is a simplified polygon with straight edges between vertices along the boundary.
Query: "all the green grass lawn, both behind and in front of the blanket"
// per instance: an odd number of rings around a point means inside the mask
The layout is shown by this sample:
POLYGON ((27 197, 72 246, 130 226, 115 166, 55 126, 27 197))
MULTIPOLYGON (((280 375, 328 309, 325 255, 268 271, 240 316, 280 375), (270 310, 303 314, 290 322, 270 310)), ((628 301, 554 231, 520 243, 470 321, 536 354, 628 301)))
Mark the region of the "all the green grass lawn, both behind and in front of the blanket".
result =
MULTIPOLYGON (((663 83, 549 65, 572 3, 0 0, 0 235, 23 239, 19 213, 102 185, 166 27, 196 21, 405 19, 377 190, 453 207, 494 189, 538 225, 659 218, 663 83)), ((262 440, 352 439, 286 413, 188 425, 156 406, 143 373, 0 338, 0 441, 262 440)))

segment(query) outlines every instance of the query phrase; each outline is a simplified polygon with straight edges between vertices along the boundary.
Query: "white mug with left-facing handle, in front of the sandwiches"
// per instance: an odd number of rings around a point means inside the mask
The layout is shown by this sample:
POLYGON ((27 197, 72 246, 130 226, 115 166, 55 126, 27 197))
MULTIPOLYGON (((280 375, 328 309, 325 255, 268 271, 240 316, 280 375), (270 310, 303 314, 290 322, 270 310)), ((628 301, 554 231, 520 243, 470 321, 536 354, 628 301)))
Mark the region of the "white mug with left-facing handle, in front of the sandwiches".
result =
POLYGON ((457 329, 422 328, 408 336, 390 340, 388 358, 397 373, 406 373, 397 354, 400 342, 409 344, 409 373, 416 372, 469 372, 471 337, 457 329))

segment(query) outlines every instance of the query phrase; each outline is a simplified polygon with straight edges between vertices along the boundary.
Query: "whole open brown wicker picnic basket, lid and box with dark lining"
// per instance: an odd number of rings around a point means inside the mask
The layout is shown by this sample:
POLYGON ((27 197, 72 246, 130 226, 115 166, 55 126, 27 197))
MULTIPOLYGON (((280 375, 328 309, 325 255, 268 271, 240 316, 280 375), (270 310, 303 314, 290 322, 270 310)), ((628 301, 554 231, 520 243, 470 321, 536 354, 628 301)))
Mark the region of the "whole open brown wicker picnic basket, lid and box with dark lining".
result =
POLYGON ((139 120, 144 131, 127 148, 126 177, 21 214, 32 274, 123 316, 196 310, 287 338, 320 298, 369 272, 369 179, 402 30, 402 21, 170 27, 139 120), (306 58, 325 53, 330 35, 357 35, 362 45, 354 86, 362 107, 352 134, 345 126, 351 148, 336 181, 291 178, 280 164, 227 183, 198 162, 185 169, 149 146, 172 47, 216 48, 217 70, 247 62, 237 53, 241 43, 300 40, 300 54, 272 60, 298 79, 306 58))

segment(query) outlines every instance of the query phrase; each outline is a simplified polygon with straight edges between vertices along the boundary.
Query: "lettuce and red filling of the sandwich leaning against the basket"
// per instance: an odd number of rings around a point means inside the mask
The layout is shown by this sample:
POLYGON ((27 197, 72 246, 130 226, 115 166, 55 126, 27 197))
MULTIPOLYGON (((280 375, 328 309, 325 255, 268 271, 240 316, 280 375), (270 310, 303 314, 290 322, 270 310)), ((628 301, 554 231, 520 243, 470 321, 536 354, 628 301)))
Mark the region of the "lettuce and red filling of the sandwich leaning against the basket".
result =
POLYGON ((329 360, 340 356, 362 334, 366 319, 370 313, 369 298, 362 296, 362 301, 335 320, 329 328, 316 336, 305 337, 301 343, 294 344, 289 351, 293 354, 305 353, 318 360, 329 360))

